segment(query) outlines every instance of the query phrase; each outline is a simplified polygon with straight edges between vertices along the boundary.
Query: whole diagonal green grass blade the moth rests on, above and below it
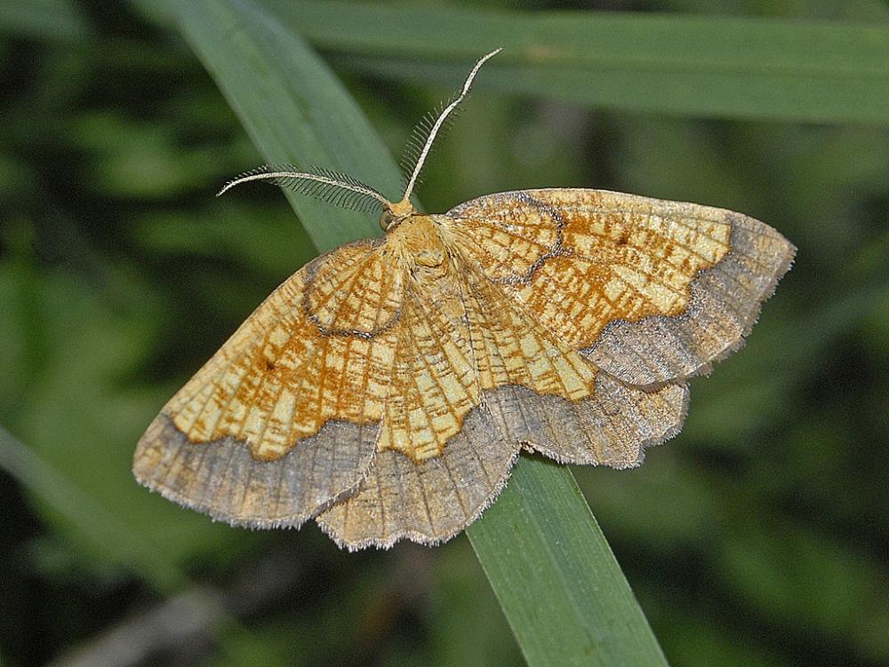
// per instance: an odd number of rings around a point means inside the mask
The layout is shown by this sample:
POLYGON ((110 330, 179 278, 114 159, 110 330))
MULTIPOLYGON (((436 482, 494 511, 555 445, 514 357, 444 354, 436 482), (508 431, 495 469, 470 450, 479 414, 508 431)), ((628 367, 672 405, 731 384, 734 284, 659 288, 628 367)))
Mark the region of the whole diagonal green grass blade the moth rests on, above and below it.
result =
MULTIPOLYGON (((397 182, 395 163, 355 103, 271 15, 237 0, 170 6, 269 162, 303 163, 309 155, 383 187, 397 182)), ((357 225, 340 210, 294 201, 318 250, 376 228, 366 216, 357 225)), ((567 468, 521 462, 472 541, 529 663, 627 664, 621 655, 664 663, 567 468), (517 583, 533 594, 517 592, 517 583)))

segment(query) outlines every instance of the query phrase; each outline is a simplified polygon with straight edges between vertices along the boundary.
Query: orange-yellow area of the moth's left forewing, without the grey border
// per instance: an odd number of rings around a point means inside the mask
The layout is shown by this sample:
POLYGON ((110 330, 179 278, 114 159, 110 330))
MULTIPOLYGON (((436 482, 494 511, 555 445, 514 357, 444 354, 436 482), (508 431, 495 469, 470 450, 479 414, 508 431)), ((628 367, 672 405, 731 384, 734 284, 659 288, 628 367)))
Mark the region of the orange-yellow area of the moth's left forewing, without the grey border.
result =
POLYGON ((391 278, 383 284, 392 290, 369 285, 377 245, 319 258, 244 322, 164 407, 189 441, 231 437, 254 457, 273 460, 331 419, 380 421, 396 355, 392 322, 400 291, 391 278), (351 270, 330 269, 340 263, 351 270), (332 293, 337 297, 312 298, 332 293))

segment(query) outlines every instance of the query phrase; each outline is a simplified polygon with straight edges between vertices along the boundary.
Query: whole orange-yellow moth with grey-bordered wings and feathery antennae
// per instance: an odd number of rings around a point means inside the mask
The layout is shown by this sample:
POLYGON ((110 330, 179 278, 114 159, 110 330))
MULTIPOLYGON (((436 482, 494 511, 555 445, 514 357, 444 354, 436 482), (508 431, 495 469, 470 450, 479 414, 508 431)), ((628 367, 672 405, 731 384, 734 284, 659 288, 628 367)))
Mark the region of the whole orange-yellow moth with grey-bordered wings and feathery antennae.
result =
POLYGON ((314 518, 350 550, 437 544, 522 449, 628 468, 678 433, 688 379, 741 345, 795 249, 741 213, 604 190, 418 212, 429 149, 498 51, 421 124, 399 202, 324 169, 223 188, 374 206, 385 235, 316 258, 247 318, 148 426, 142 484, 236 526, 314 518))

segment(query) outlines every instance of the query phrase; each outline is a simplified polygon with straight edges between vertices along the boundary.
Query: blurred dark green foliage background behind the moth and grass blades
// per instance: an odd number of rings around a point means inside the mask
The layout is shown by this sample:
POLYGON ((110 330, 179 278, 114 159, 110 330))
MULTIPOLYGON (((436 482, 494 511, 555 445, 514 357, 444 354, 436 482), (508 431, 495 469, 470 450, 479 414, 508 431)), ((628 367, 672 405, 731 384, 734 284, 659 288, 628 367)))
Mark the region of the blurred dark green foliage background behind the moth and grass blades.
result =
MULTIPOLYGON (((861 0, 590 5, 889 19, 861 0)), ((305 28, 396 155, 451 93, 305 28)), ((4 0, 0 62, 0 664, 521 663, 465 536, 347 554, 314 524, 228 528, 136 485, 157 410, 313 250, 276 190, 213 197, 263 160, 152 3, 4 0)), ((745 349, 693 382, 683 433, 636 470, 574 472, 671 663, 889 664, 886 124, 608 110, 483 72, 425 176, 433 211, 602 187, 797 244, 745 349)))

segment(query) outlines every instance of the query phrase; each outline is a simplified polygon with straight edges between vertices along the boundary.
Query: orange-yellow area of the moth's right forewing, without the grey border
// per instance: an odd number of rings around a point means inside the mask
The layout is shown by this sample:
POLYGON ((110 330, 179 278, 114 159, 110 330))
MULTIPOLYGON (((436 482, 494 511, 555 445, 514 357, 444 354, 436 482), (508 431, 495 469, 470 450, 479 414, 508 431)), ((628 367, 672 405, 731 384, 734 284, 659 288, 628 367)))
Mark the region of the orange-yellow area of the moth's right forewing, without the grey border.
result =
POLYGON ((489 279, 580 349, 614 320, 684 312, 694 278, 730 248, 731 225, 716 211, 597 190, 531 190, 461 204, 445 224, 489 279), (490 210, 509 218, 485 218, 490 210), (525 252, 518 263, 509 260, 513 247, 525 252))

